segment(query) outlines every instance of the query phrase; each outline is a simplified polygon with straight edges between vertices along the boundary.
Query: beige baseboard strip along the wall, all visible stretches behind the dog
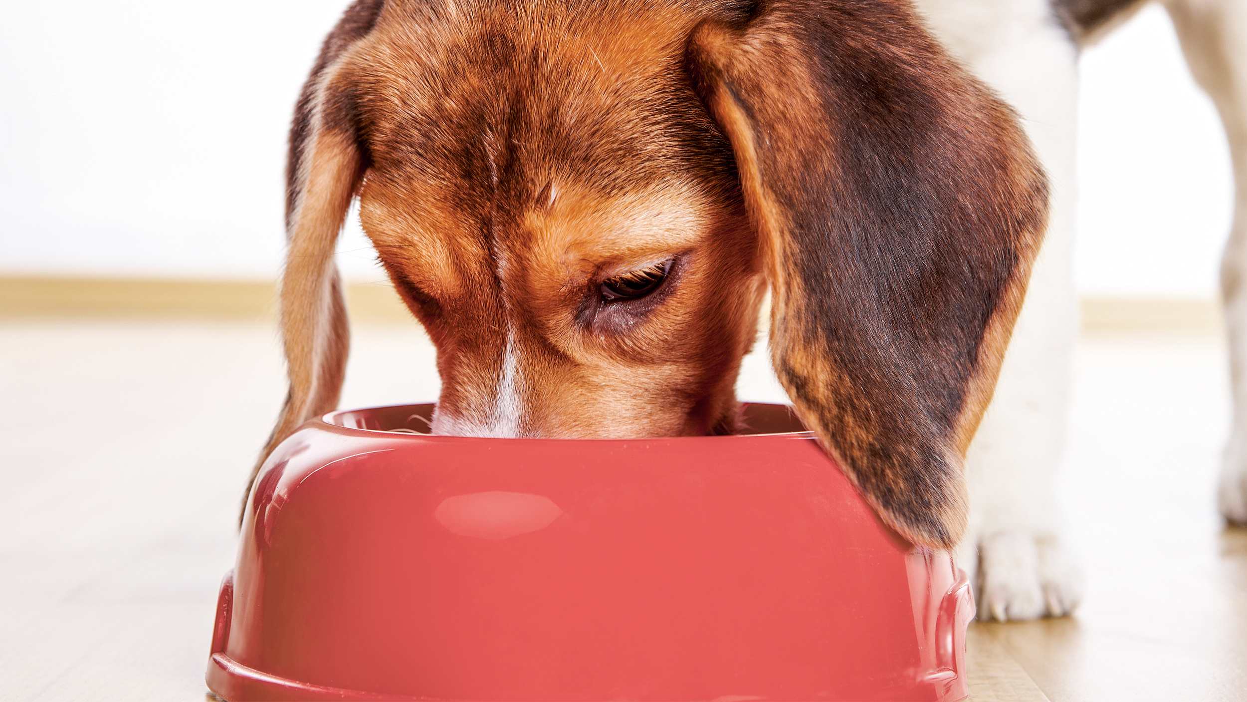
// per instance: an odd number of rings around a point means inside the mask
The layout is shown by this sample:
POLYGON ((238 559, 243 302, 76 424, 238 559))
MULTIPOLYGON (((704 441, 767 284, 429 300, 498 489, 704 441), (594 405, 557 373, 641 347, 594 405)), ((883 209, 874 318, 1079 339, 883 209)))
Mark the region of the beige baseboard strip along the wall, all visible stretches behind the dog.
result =
MULTIPOLYGON (((388 283, 347 286, 350 317, 363 323, 410 323, 388 283)), ((272 320, 271 282, 157 281, 0 276, 0 318, 92 317, 272 320)), ((1212 298, 1084 298, 1090 333, 1216 333, 1221 309, 1212 298)))

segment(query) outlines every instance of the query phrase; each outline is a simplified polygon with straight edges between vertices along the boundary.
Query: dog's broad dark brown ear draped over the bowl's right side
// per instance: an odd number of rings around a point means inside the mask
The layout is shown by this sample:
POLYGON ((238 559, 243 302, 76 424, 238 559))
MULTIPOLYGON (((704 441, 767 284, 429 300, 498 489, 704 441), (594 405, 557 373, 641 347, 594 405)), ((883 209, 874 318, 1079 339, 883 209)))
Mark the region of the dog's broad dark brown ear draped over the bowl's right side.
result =
POLYGON ((1046 223, 1011 112, 904 1, 761 2, 688 70, 736 155, 798 414, 883 520, 951 547, 1046 223))

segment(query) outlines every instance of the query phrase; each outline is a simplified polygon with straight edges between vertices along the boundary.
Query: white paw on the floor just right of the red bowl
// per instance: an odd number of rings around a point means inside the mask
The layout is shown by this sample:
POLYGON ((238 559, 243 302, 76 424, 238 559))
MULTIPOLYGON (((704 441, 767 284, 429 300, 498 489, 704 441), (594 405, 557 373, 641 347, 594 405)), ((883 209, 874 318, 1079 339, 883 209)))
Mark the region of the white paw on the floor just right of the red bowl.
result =
POLYGON ((1070 613, 1082 575, 1054 537, 995 531, 979 540, 979 618, 1034 620, 1070 613))

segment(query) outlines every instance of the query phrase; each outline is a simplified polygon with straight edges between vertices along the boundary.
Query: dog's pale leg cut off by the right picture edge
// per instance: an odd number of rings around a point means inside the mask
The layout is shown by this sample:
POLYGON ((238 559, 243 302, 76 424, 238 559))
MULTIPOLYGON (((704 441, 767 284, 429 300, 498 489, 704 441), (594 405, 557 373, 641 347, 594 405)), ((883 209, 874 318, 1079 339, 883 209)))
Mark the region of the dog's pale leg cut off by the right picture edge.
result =
POLYGON ((1191 74, 1212 97, 1230 141, 1235 219, 1221 259, 1235 418, 1221 471, 1221 512, 1247 524, 1247 4, 1166 0, 1191 74))

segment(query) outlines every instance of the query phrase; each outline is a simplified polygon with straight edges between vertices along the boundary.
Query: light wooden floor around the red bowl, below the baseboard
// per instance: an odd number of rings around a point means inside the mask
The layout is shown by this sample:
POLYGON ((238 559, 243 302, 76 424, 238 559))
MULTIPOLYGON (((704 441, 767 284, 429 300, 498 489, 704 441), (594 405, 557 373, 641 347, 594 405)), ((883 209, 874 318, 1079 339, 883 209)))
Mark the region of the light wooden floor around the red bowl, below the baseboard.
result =
MULTIPOLYGON (((277 348, 267 323, 0 322, 0 698, 205 698, 277 348)), ((436 397, 410 327, 357 327, 355 349, 344 405, 436 397)), ((971 627, 973 700, 1247 700, 1247 532, 1212 496, 1223 355, 1084 339, 1065 483, 1086 602, 971 627)), ((773 399, 759 368, 742 394, 773 399)))

